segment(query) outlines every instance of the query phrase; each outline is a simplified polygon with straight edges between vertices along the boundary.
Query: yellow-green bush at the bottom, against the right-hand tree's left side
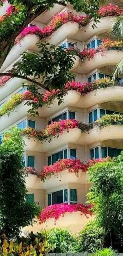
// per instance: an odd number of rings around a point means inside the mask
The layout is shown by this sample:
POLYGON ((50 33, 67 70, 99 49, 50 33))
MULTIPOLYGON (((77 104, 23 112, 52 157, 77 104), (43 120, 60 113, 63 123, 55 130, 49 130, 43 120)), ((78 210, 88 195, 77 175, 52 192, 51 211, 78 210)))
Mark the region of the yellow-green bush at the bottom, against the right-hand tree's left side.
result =
POLYGON ((100 248, 102 236, 103 229, 100 229, 95 221, 90 221, 79 232, 76 252, 95 252, 100 248))

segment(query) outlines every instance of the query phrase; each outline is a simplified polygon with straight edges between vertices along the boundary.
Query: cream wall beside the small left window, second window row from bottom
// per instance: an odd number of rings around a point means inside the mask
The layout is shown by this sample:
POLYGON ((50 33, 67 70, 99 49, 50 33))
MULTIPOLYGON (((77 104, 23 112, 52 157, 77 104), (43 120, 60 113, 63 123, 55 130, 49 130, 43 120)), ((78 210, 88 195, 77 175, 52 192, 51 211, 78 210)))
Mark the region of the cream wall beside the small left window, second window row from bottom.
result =
POLYGON ((46 165, 45 162, 45 153, 35 152, 35 151, 25 151, 26 155, 32 155, 35 157, 35 169, 41 170, 44 165, 46 165))

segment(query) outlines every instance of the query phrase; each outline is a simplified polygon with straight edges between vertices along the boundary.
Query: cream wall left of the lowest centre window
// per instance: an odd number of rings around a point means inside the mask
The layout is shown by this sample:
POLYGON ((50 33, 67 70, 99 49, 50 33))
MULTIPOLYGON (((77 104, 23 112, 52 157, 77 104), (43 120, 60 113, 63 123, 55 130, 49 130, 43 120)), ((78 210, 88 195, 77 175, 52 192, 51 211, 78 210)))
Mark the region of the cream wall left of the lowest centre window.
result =
POLYGON ((28 188, 28 193, 34 194, 34 201, 45 207, 45 190, 28 188))

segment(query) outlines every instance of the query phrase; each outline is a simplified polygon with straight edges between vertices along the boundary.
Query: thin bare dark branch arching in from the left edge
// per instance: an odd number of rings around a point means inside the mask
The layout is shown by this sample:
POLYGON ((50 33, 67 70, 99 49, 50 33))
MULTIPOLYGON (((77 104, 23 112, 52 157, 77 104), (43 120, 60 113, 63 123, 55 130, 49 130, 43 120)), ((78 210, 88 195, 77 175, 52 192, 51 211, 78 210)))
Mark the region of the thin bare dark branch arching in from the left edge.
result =
POLYGON ((17 74, 11 74, 11 73, 0 73, 0 77, 1 77, 1 76, 10 76, 11 78, 16 77, 16 78, 20 78, 20 79, 25 79, 25 80, 27 80, 27 81, 29 81, 29 82, 31 82, 31 83, 34 83, 34 84, 40 86, 40 87, 43 88, 43 89, 49 91, 49 88, 45 87, 45 86, 44 86, 43 84, 41 84, 40 82, 37 82, 37 81, 35 81, 34 79, 31 79, 31 78, 26 77, 26 76, 23 76, 23 75, 17 75, 17 74))

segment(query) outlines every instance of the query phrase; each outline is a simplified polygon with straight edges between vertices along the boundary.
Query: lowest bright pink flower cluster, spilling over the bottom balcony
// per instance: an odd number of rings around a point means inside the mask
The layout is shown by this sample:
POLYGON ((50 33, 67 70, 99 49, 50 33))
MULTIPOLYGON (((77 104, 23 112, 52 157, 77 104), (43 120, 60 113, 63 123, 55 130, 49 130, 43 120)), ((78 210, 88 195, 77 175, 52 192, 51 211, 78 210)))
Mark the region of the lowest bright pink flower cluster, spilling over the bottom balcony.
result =
MULTIPOLYGON (((92 215, 91 206, 85 206, 84 204, 53 204, 50 206, 45 207, 39 217, 39 224, 44 223, 45 221, 49 220, 50 218, 55 218, 55 221, 60 218, 60 216, 64 217, 65 213, 73 213, 73 212, 81 212, 81 215, 84 214, 85 216, 92 215)), ((88 216, 87 216, 88 218, 88 216)))

